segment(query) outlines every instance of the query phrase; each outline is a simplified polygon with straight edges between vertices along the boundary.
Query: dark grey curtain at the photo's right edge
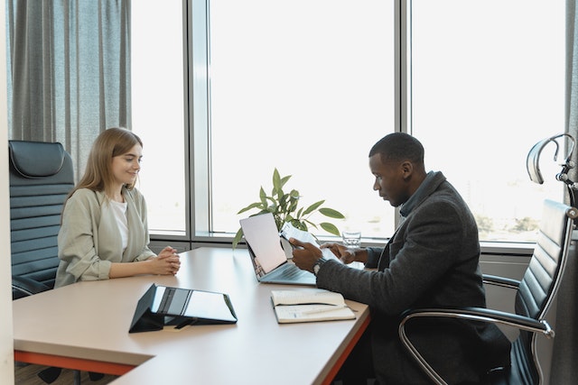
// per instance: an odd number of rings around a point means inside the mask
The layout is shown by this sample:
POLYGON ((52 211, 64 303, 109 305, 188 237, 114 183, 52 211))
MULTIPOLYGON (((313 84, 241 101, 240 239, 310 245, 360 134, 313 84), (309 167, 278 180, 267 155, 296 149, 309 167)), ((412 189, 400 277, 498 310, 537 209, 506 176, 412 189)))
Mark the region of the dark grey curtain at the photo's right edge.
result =
MULTIPOLYGON (((566 133, 578 139, 578 10, 576 0, 566 0, 566 133)), ((578 164, 578 151, 573 161, 578 164)), ((578 180, 576 169, 568 173, 578 180)), ((574 231, 576 233, 576 231, 574 231)), ((571 254, 564 272, 556 305, 555 339, 550 384, 571 384, 578 379, 578 248, 571 254)))

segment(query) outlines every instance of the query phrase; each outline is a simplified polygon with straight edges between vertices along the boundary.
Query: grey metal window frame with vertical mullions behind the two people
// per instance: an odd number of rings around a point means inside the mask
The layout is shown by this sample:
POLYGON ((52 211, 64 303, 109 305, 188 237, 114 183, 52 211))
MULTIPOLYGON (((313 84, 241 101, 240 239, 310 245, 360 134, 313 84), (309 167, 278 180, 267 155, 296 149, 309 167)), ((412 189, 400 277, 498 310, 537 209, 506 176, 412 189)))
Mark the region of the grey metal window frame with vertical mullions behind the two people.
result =
MULTIPOLYGON (((395 18, 395 131, 411 133, 411 0, 394 0, 395 18)), ((186 63, 185 137, 189 164, 187 192, 187 241, 191 245, 227 245, 234 233, 211 233, 211 167, 210 167, 210 0, 183 0, 185 17, 184 47, 186 63), (196 41, 194 45, 189 44, 196 41)), ((186 157, 185 157, 186 158, 186 157)), ((399 224, 396 209, 395 226, 399 224)), ((152 235, 153 238, 153 235, 152 235)), ((181 237, 178 237, 181 238, 181 237)), ((158 237, 156 237, 158 239, 158 237)), ((183 238, 181 238, 184 240, 183 238)), ((364 245, 380 246, 383 239, 363 240, 364 245)), ((528 255, 534 243, 480 242, 483 253, 528 255)))

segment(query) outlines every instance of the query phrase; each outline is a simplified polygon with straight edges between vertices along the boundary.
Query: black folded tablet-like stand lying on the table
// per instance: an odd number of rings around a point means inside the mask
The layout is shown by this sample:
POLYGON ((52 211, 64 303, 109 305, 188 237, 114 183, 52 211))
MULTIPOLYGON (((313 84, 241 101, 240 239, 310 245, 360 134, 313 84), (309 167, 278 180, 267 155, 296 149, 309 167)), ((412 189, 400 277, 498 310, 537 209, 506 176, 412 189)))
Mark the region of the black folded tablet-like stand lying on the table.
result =
POLYGON ((138 300, 128 332, 235 323, 237 315, 227 294, 153 284, 138 300))

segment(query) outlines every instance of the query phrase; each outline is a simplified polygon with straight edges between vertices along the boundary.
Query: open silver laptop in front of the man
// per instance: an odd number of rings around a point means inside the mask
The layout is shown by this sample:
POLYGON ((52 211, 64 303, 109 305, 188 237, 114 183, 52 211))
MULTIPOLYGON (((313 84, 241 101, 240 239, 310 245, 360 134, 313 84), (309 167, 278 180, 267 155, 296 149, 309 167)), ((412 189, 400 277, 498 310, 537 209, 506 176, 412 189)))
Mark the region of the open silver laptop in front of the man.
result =
POLYGON ((239 223, 245 234, 256 280, 262 283, 315 286, 312 272, 301 270, 293 262, 287 261, 273 214, 249 216, 239 223))

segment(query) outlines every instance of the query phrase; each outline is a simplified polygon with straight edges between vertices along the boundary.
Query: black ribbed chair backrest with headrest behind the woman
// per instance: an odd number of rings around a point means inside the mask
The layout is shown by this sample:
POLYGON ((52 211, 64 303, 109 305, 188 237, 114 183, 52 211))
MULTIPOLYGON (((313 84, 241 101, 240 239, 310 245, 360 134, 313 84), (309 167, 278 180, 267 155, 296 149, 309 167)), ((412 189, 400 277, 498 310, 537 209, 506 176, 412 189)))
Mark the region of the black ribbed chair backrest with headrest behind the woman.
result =
MULTIPOLYGON (((8 141, 12 275, 54 287, 64 199, 74 187, 68 152, 59 142, 8 141)), ((13 297, 22 295, 14 293, 13 297)))

